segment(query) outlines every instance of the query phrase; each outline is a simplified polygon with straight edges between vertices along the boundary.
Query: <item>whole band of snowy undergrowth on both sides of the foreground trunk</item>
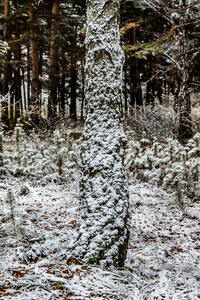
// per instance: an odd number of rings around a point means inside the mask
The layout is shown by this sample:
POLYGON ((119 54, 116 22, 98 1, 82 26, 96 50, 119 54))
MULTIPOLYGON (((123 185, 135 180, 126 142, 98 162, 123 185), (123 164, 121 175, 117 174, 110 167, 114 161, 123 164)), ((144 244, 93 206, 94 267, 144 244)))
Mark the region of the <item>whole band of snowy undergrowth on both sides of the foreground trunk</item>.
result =
MULTIPOLYGON (((176 139, 138 139, 135 131, 127 131, 125 158, 129 177, 149 182, 172 192, 184 207, 184 198, 200 198, 200 133, 186 145, 176 139)), ((55 130, 46 138, 25 134, 17 124, 12 136, 0 133, 0 175, 30 179, 40 184, 73 181, 77 174, 79 142, 70 131, 55 130)))

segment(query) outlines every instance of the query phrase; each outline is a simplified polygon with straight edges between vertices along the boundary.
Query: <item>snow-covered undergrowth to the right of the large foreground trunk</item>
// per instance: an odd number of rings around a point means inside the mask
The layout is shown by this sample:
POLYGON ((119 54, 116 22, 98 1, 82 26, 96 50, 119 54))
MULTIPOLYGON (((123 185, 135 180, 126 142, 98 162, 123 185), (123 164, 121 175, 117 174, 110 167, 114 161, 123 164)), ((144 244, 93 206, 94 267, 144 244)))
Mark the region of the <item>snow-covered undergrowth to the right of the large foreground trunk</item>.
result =
POLYGON ((197 133, 185 146, 168 139, 151 143, 147 139, 134 141, 127 147, 126 167, 130 176, 148 181, 175 193, 181 202, 185 196, 193 199, 200 194, 200 134, 197 133))

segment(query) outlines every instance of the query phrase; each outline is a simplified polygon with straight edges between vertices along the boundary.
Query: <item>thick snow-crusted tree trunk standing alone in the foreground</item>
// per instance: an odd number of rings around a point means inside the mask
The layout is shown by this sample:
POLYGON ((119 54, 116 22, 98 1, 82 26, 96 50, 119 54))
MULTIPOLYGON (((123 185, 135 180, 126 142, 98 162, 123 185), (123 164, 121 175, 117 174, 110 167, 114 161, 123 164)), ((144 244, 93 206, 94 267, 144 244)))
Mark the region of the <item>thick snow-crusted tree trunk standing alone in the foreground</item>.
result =
POLYGON ((88 114, 81 145, 80 215, 68 260, 120 267, 130 214, 120 120, 124 54, 119 0, 87 1, 86 49, 88 114))

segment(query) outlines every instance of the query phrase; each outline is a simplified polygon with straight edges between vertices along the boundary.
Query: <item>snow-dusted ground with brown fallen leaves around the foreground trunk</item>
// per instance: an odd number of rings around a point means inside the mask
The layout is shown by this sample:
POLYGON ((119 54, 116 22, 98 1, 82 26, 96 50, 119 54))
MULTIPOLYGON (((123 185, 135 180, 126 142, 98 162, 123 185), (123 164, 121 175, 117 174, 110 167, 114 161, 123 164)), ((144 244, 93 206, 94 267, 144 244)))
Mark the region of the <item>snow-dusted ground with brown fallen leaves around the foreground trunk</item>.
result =
POLYGON ((0 182, 0 300, 200 298, 198 202, 181 209, 161 189, 130 183, 126 268, 104 270, 65 262, 78 214, 77 181, 13 179, 13 217, 7 187, 0 182))

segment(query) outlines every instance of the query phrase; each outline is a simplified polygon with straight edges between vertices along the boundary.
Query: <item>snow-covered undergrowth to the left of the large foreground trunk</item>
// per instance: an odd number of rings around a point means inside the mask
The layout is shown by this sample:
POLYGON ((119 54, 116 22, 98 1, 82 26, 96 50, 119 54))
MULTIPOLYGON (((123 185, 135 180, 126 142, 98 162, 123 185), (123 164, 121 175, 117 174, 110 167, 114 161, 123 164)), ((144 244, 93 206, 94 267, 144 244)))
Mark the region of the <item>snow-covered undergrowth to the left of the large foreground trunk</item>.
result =
MULTIPOLYGON (((3 149, 3 134, 1 137, 3 149)), ((46 139, 34 133, 25 136, 20 126, 16 126, 13 136, 4 139, 9 145, 6 151, 0 153, 0 173, 4 178, 26 177, 47 182, 74 178, 78 167, 78 141, 70 140, 69 143, 58 130, 46 139)))

